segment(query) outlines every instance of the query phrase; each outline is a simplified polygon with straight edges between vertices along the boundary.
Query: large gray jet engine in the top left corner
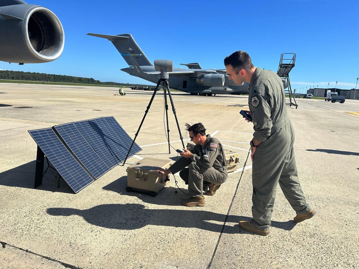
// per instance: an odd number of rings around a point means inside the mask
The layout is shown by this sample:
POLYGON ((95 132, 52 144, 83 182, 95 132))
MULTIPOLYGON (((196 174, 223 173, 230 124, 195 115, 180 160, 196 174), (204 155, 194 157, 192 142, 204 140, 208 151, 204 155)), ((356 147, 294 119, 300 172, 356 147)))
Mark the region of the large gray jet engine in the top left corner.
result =
POLYGON ((57 16, 22 0, 0 1, 0 37, 0 60, 15 63, 51 62, 65 43, 57 16))

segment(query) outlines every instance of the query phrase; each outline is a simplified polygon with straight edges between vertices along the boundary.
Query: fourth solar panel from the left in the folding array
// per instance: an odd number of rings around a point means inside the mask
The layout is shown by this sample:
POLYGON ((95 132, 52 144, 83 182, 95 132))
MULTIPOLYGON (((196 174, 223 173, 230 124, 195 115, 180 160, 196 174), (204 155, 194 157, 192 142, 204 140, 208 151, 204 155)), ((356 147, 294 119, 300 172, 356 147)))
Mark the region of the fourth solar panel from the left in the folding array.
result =
POLYGON ((116 153, 120 162, 124 161, 128 150, 126 151, 125 145, 119 140, 116 133, 112 130, 111 126, 102 118, 90 119, 90 122, 95 127, 96 131, 102 139, 111 147, 113 152, 116 153))

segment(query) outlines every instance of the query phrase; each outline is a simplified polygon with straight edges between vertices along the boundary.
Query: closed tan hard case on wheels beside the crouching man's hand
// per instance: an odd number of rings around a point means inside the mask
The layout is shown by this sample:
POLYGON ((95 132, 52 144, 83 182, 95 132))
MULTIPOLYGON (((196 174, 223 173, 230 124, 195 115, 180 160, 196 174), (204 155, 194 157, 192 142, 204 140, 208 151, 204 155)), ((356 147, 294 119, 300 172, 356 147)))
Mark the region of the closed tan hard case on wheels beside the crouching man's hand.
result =
POLYGON ((171 174, 162 179, 157 172, 158 167, 168 169, 173 164, 171 160, 144 158, 135 164, 127 167, 127 188, 126 191, 146 193, 156 196, 157 193, 167 185, 171 174))

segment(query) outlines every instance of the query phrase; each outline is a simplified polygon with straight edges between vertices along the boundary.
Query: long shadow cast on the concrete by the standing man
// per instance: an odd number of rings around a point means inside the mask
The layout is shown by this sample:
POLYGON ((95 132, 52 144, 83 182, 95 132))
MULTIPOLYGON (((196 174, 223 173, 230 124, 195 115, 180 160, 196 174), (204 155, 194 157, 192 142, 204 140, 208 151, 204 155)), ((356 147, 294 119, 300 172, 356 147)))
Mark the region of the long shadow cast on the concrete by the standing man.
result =
MULTIPOLYGON (((118 230, 135 230, 147 225, 157 225, 220 232, 226 217, 225 214, 202 210, 148 209, 142 204, 101 204, 83 210, 48 208, 47 213, 52 216, 78 215, 92 225, 118 230)), ((233 215, 228 217, 228 222, 237 222, 238 220, 249 221, 250 218, 233 215)), ((292 230, 295 222, 288 221, 280 225, 278 222, 273 222, 272 226, 292 230)), ((238 225, 226 225, 223 232, 228 234, 247 233, 239 229, 238 225)))

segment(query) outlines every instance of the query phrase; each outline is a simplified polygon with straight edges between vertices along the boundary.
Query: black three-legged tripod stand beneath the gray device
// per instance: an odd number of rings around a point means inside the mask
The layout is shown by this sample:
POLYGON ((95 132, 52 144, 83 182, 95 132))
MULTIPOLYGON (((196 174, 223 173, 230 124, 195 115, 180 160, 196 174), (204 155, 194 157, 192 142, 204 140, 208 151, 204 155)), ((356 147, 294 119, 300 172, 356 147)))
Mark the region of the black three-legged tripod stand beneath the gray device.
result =
POLYGON ((171 95, 171 91, 169 90, 169 85, 168 85, 168 79, 167 78, 164 78, 164 79, 159 79, 158 82, 157 82, 157 86, 152 94, 152 97, 151 97, 151 100, 147 106, 147 109, 145 111, 145 115, 143 116, 143 119, 141 121, 141 124, 140 126, 138 127, 138 130, 135 134, 135 138, 134 140, 132 141, 132 144, 131 144, 131 147, 129 149, 129 152, 127 152, 127 156, 125 158, 125 161, 123 161, 123 166, 125 165, 126 163, 126 160, 127 160, 127 157, 129 157, 130 155, 130 152, 131 152, 131 148, 132 146, 134 145, 135 143, 135 140, 137 138, 137 135, 138 133, 140 132, 140 129, 141 129, 141 126, 146 118, 146 115, 148 113, 148 110, 150 110, 150 107, 151 107, 151 104, 152 104, 152 101, 158 91, 158 87, 159 85, 161 84, 162 82, 162 85, 163 85, 163 93, 164 93, 164 107, 165 107, 165 111, 166 111, 166 120, 167 120, 167 135, 168 135, 168 153, 171 153, 171 145, 169 145, 169 128, 168 128, 168 104, 167 104, 167 92, 168 92, 168 96, 169 96, 169 100, 171 102, 171 106, 172 106, 172 111, 173 111, 173 114, 174 114, 174 118, 176 119, 176 123, 177 123, 177 128, 178 128, 178 132, 180 133, 180 138, 181 138, 181 141, 182 141, 182 146, 183 148, 185 148, 185 144, 183 143, 183 137, 182 137, 182 134, 181 134, 181 129, 180 129, 180 125, 178 124, 178 119, 177 119, 177 115, 176 115, 176 109, 174 108, 174 104, 173 104, 173 99, 172 99, 172 95, 171 95))

